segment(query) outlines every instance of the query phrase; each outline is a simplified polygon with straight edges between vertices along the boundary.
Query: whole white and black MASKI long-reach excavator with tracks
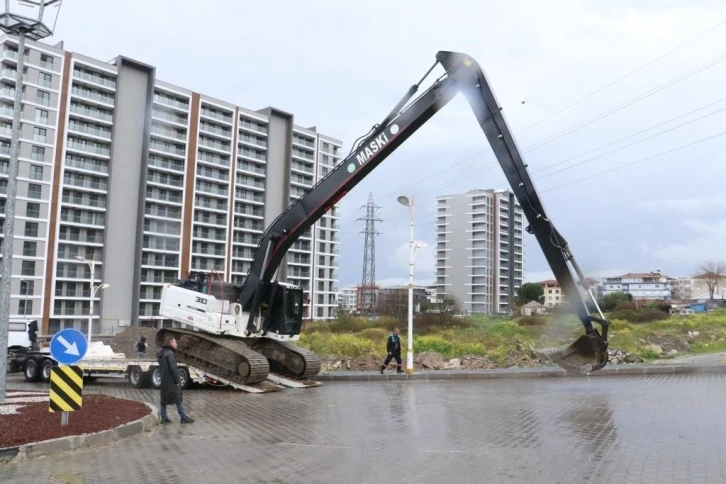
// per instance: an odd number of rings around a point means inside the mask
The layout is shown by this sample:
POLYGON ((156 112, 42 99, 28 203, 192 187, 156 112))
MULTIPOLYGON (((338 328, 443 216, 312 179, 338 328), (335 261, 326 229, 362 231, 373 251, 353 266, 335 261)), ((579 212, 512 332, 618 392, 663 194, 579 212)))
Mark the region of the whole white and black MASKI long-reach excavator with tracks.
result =
POLYGON ((160 315, 191 329, 161 329, 157 345, 173 336, 180 361, 240 384, 261 382, 270 371, 298 380, 316 375, 320 358, 293 343, 302 326, 303 289, 273 280, 273 276, 302 234, 458 93, 474 111, 522 207, 529 223, 527 232, 536 237, 584 327, 584 334, 571 345, 545 356, 578 374, 603 368, 608 361, 610 322, 567 242, 545 212, 486 75, 472 57, 451 51, 438 52, 434 65, 383 121, 359 138, 341 163, 274 220, 261 237, 243 284, 226 283, 214 273, 190 273, 187 279, 166 284, 160 315), (438 65, 444 73, 411 101, 438 65))

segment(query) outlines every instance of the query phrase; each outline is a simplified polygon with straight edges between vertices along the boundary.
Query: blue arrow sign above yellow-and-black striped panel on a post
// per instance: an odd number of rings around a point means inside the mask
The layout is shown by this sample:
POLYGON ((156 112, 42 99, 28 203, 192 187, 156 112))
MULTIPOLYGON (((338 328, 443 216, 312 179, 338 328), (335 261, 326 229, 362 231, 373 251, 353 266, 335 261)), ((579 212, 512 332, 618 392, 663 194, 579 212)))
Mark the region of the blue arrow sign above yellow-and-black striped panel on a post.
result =
POLYGON ((61 413, 61 425, 68 425, 68 412, 83 406, 83 370, 76 366, 86 356, 88 340, 77 329, 58 331, 50 341, 50 354, 58 362, 50 374, 50 412, 61 413))

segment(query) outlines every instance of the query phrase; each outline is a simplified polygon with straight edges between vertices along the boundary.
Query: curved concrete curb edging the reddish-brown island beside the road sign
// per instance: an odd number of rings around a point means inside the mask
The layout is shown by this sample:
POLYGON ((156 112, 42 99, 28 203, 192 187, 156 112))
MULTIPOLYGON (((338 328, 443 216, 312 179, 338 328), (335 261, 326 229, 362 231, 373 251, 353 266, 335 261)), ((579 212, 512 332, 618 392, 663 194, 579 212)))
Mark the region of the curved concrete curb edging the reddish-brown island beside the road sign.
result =
MULTIPOLYGON (((127 398, 121 399, 128 400, 127 398)), ((145 417, 112 429, 101 430, 100 432, 94 432, 91 434, 69 435, 67 437, 58 437, 57 439, 31 442, 16 447, 6 447, 0 449, 0 464, 22 462, 42 455, 108 444, 132 435, 149 431, 153 427, 159 425, 159 410, 150 403, 141 403, 145 404, 146 407, 151 410, 151 413, 145 417)))

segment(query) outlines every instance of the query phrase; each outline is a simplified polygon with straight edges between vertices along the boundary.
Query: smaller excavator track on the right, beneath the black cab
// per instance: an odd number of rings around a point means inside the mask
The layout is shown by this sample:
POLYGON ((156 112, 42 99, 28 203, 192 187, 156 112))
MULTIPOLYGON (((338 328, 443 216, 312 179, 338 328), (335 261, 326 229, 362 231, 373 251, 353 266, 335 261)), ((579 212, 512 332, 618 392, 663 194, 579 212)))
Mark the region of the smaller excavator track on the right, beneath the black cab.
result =
POLYGON ((249 342, 250 348, 264 355, 275 373, 302 380, 317 375, 322 368, 320 357, 288 341, 260 338, 249 342))

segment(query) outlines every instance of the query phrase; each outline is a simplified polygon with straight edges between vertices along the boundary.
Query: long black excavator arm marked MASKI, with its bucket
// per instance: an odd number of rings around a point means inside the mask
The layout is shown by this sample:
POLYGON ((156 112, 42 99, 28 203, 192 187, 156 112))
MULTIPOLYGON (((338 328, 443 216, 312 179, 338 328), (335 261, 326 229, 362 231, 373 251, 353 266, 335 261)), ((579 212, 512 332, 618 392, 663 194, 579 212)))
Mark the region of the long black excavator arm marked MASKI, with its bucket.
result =
POLYGON ((343 162, 280 214, 264 233, 240 291, 240 303, 249 311, 249 331, 254 331, 254 316, 260 304, 269 299, 271 290, 275 290, 270 289, 270 282, 293 243, 458 93, 466 97, 474 111, 529 222, 527 232, 536 237, 555 278, 574 304, 584 326, 585 334, 577 341, 547 356, 559 366, 578 373, 589 373, 606 365, 609 322, 588 289, 586 278, 567 242, 545 212, 484 72, 471 57, 448 51, 438 52, 436 63, 418 84, 411 86, 388 116, 354 145, 343 162), (407 105, 423 80, 439 64, 444 68, 444 75, 407 105), (593 313, 598 315, 593 316, 593 313), (601 325, 602 334, 593 326, 593 321, 601 325))

